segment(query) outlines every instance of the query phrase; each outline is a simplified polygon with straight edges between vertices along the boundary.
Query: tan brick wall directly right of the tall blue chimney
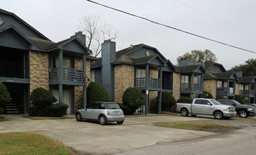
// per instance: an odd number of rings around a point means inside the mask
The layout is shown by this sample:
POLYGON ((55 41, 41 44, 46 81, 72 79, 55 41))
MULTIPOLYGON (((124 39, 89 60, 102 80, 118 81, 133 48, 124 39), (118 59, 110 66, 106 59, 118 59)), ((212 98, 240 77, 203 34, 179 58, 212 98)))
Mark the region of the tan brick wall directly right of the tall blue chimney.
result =
POLYGON ((126 64, 114 66, 114 101, 122 103, 123 92, 134 87, 134 69, 126 64))

